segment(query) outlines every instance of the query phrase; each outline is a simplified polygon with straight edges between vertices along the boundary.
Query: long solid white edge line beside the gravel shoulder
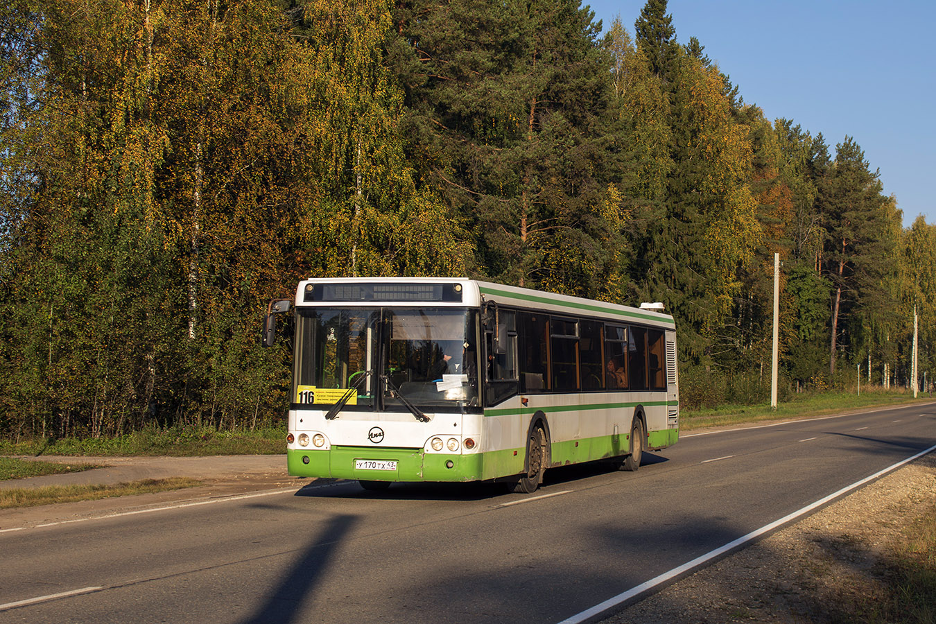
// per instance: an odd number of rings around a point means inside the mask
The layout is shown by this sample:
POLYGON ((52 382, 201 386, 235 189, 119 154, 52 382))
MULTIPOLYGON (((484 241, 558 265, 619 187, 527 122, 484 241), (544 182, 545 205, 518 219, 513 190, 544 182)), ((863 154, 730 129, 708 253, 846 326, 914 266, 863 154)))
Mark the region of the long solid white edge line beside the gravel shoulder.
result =
POLYGON ((838 492, 833 492, 832 494, 829 494, 828 496, 822 499, 819 499, 818 501, 812 502, 811 504, 793 512, 792 514, 784 515, 782 518, 778 520, 774 520, 770 524, 765 525, 761 527, 760 529, 753 530, 747 535, 742 535, 737 540, 728 542, 727 544, 724 544, 724 546, 721 546, 720 548, 716 548, 715 550, 712 550, 709 553, 702 555, 701 557, 696 557, 692 561, 687 561, 686 563, 683 563, 679 567, 673 568, 669 572, 665 572, 665 573, 660 574, 659 576, 655 576, 651 578, 649 581, 647 581, 646 583, 641 583, 635 588, 630 588, 627 591, 624 591, 613 598, 607 599, 607 601, 605 602, 601 602, 600 604, 594 605, 590 609, 586 609, 585 611, 582 611, 581 613, 578 613, 572 617, 567 617, 566 619, 563 619, 563 621, 560 622, 559 624, 584 624, 585 622, 598 621, 598 617, 604 617, 604 616, 610 615, 607 612, 619 606, 622 602, 629 601, 632 598, 635 598, 636 596, 639 596, 640 594, 644 593, 645 591, 649 591, 652 588, 656 588, 659 585, 663 585, 669 581, 672 581, 678 576, 680 576, 681 574, 688 573, 692 570, 695 570, 695 568, 701 567, 705 563, 708 563, 710 560, 721 557, 722 555, 734 550, 735 548, 738 548, 739 546, 743 544, 752 542, 753 540, 757 539, 761 535, 764 535, 765 533, 770 532, 771 530, 778 529, 782 527, 784 524, 788 524, 792 522, 793 520, 796 520, 798 517, 802 515, 809 514, 814 509, 826 504, 826 502, 834 501, 835 499, 839 498, 841 495, 847 494, 848 492, 851 492, 853 489, 857 489, 860 486, 864 486, 865 484, 870 483, 871 481, 874 481, 878 477, 884 476, 887 472, 895 471, 899 467, 903 466, 904 464, 909 464, 914 459, 918 457, 923 457, 924 455, 927 455, 928 453, 932 453, 933 451, 936 451, 936 445, 930 446, 925 451, 920 451, 919 453, 914 455, 914 457, 907 457, 906 459, 903 459, 897 462, 896 464, 888 466, 884 470, 875 472, 874 474, 867 476, 864 479, 861 479, 860 481, 856 481, 851 486, 844 486, 838 492))

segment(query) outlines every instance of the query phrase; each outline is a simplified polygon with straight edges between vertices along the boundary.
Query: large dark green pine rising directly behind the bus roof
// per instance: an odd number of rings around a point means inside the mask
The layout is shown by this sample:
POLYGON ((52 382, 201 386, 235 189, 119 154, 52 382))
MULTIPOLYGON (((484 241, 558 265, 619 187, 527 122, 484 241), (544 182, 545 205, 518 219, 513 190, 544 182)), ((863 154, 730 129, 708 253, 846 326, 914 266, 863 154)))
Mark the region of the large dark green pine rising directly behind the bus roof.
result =
POLYGON ((396 16, 414 163, 472 227, 479 269, 599 293, 616 268, 622 210, 602 180, 620 146, 593 14, 568 0, 455 0, 396 16))

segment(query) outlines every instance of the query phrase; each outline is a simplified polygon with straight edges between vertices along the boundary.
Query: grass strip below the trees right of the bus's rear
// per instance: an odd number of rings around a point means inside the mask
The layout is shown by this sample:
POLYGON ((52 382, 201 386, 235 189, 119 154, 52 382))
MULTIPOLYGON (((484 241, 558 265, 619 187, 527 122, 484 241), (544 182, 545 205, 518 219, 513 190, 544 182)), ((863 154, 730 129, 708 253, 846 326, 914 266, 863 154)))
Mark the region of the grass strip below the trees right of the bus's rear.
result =
MULTIPOLYGON (((928 402, 929 395, 920 394, 915 402, 928 402)), ((888 405, 902 405, 914 402, 914 395, 903 391, 885 391, 875 389, 862 391, 861 397, 855 393, 803 394, 780 403, 777 409, 764 405, 722 405, 711 410, 681 411, 680 427, 683 430, 739 425, 767 420, 788 418, 806 418, 824 414, 841 414, 852 410, 888 405)))

